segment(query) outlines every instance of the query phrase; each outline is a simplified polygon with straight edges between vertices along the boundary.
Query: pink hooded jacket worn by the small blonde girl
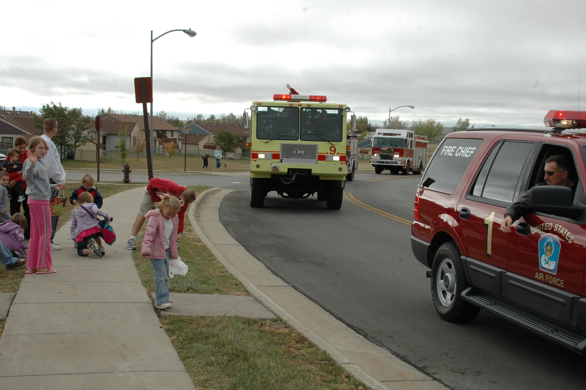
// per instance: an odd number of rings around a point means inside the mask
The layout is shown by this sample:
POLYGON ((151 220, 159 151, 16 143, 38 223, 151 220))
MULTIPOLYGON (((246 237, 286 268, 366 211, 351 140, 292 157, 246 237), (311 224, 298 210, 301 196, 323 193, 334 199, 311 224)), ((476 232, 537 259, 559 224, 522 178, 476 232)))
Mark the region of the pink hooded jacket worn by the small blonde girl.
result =
MULTIPOLYGON (((147 229, 145 236, 142 238, 142 255, 147 255, 151 259, 166 259, 165 246, 163 245, 163 230, 165 229, 165 218, 161 215, 159 209, 151 210, 145 214, 147 218, 147 229)), ((173 231, 169 237, 169 259, 177 259, 177 230, 179 228, 179 217, 174 216, 173 231)))

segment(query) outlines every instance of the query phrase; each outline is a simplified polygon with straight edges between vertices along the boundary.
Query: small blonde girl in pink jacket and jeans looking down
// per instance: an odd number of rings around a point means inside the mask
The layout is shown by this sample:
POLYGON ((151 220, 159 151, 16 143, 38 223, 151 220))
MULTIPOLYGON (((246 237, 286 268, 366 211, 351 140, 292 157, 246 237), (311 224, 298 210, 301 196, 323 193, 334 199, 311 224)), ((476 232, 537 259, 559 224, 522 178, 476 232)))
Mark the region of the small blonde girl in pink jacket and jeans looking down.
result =
POLYGON ((158 194, 161 202, 159 209, 145 214, 147 229, 142 238, 142 259, 151 258, 155 273, 155 306, 160 309, 171 308, 169 302, 169 261, 177 259, 177 214, 183 206, 183 199, 169 194, 158 194))

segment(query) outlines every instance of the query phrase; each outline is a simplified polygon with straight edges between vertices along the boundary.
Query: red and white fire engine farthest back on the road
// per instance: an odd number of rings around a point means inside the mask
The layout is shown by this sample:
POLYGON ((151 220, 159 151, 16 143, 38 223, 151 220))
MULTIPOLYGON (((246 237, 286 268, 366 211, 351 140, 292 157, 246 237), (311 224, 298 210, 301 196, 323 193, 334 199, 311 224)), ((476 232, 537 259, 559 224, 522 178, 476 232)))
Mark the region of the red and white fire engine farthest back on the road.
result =
POLYGON ((372 138, 370 165, 377 174, 385 169, 391 174, 421 174, 427 165, 427 137, 411 130, 377 128, 372 138))

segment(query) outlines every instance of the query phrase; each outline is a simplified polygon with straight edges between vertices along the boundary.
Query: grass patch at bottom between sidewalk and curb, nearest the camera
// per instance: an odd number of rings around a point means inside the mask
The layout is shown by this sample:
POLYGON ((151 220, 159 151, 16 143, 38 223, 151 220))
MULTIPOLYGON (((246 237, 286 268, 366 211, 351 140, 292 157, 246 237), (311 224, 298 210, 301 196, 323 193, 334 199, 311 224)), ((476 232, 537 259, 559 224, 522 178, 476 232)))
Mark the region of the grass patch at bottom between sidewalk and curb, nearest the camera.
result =
POLYGON ((282 320, 169 316, 161 323, 198 390, 364 389, 282 320))

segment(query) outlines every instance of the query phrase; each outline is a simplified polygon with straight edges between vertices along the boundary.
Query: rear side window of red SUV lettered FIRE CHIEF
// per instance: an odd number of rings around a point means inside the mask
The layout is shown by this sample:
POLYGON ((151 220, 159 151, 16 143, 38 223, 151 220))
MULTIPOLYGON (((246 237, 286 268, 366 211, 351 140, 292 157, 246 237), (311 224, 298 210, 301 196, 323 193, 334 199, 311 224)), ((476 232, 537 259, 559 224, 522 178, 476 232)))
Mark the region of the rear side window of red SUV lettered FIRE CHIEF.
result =
POLYGON ((476 138, 444 138, 425 169, 420 186, 454 194, 482 142, 476 138))

